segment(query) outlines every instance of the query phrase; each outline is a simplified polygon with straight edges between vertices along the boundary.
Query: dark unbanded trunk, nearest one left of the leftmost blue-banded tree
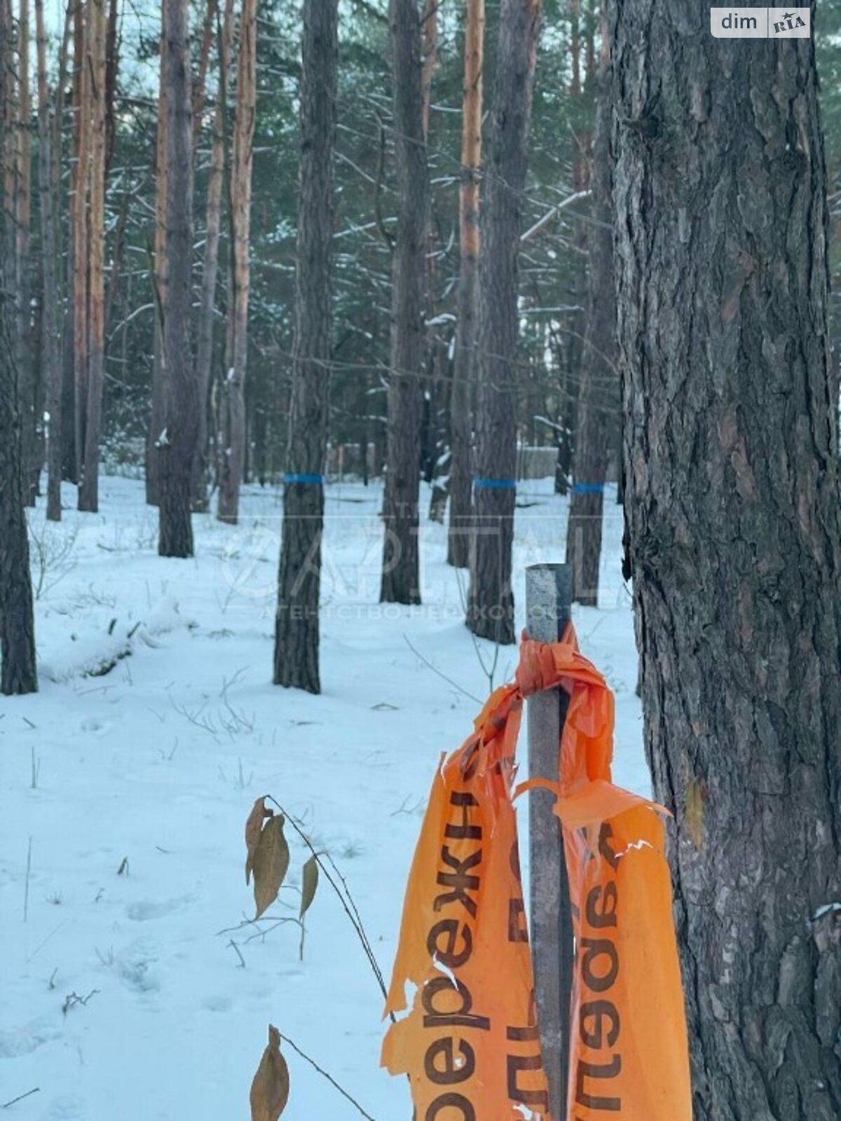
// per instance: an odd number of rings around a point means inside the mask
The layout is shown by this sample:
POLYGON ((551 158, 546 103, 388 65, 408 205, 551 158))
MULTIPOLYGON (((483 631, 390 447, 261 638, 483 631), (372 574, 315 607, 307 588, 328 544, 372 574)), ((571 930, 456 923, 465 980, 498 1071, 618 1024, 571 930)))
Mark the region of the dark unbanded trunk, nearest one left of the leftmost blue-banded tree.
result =
POLYGON ((158 554, 193 555, 192 467, 198 395, 191 352, 193 265, 193 119, 188 0, 164 0, 166 84, 166 260, 164 433, 157 441, 158 554))

